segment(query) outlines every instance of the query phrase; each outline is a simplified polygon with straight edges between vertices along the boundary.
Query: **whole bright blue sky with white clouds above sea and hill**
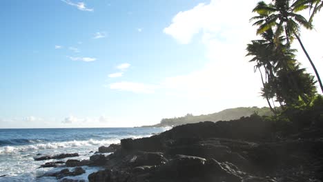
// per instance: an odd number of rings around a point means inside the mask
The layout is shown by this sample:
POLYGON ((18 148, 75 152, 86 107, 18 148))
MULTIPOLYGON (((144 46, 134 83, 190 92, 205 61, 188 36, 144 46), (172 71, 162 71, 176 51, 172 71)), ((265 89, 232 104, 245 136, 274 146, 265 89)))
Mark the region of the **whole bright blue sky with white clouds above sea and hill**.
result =
POLYGON ((150 125, 264 106, 244 57, 256 3, 224 19, 222 0, 5 0, 0 128, 150 125))

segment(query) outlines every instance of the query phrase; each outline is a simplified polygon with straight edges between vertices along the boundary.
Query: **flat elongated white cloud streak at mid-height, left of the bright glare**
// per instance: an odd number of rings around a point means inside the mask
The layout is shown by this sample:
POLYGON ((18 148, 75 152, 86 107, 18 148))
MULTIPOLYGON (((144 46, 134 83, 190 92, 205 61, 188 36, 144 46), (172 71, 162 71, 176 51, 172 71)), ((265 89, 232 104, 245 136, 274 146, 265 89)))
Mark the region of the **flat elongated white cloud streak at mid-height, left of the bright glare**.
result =
POLYGON ((107 87, 109 87, 112 90, 151 94, 155 92, 157 88, 159 88, 159 85, 122 81, 118 83, 111 83, 110 85, 107 85, 107 87))

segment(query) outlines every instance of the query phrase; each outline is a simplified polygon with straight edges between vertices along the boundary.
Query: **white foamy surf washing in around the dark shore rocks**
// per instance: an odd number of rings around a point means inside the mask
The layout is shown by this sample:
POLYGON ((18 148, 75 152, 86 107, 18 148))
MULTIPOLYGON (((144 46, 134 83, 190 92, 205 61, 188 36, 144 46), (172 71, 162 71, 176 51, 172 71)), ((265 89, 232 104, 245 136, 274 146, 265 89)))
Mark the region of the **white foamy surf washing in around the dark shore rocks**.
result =
MULTIPOLYGON (((165 129, 164 129, 165 130, 165 129)), ((167 129, 166 129, 167 130, 167 129)), ((155 131, 153 131, 155 132, 155 131)), ((156 133, 160 132, 157 130, 156 133)), ((48 161, 35 161, 34 158, 37 154, 42 155, 55 155, 61 153, 79 153, 79 156, 68 158, 68 159, 88 159, 92 152, 97 151, 97 148, 101 145, 108 146, 112 143, 120 143, 121 139, 125 138, 142 138, 151 136, 152 132, 146 132, 146 134, 136 135, 134 132, 114 132, 108 135, 109 139, 93 139, 95 138, 95 133, 89 136, 93 137, 88 140, 71 140, 71 141, 61 141, 61 142, 46 142, 32 140, 28 145, 11 145, 0 147, 0 182, 3 181, 57 181, 55 177, 41 177, 48 171, 61 170, 62 168, 39 168, 39 166, 48 161), (149 134, 148 134, 149 133, 149 134)), ((97 138, 103 136, 97 134, 97 138)), ((62 159, 61 161, 66 161, 67 159, 62 159)), ((97 171, 96 168, 83 167, 86 170, 86 174, 80 176, 68 177, 68 179, 84 179, 88 181, 88 174, 97 171)))

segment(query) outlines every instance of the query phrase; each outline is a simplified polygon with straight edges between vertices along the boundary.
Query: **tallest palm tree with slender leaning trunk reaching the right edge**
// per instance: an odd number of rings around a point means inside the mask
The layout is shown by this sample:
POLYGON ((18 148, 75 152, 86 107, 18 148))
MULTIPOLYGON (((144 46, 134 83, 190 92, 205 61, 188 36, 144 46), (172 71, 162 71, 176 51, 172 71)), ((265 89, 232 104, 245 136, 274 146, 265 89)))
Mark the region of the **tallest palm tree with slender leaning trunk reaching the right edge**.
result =
MULTIPOLYGON (((303 26, 304 28, 307 28, 309 30, 313 28, 311 21, 307 21, 302 15, 296 13, 309 7, 308 5, 306 5, 306 3, 300 3, 300 1, 296 1, 292 5, 290 5, 289 0, 273 0, 273 3, 269 4, 264 3, 264 1, 260 1, 253 9, 253 12, 257 12, 258 15, 251 18, 251 21, 255 21, 255 23, 253 23, 253 26, 259 26, 259 28, 257 29, 257 34, 262 34, 268 29, 275 28, 274 40, 276 43, 279 43, 279 40, 277 39, 283 33, 286 36, 286 44, 288 46, 290 46, 293 39, 296 38, 300 43, 302 50, 306 54, 307 59, 309 59, 309 62, 311 63, 317 77, 317 81, 320 83, 320 88, 323 92, 323 85, 320 79, 320 75, 318 74, 311 57, 307 53, 300 39, 300 26, 303 26)), ((315 8, 315 11, 317 10, 320 9, 315 8)))

